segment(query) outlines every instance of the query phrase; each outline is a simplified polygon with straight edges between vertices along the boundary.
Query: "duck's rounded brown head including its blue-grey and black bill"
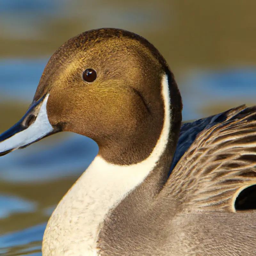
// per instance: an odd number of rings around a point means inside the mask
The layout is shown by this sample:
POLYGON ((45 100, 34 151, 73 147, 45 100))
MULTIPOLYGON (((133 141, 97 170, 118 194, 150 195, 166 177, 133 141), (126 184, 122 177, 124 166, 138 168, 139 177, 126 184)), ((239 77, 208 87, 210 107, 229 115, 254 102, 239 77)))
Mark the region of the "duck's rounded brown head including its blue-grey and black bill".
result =
POLYGON ((180 93, 156 48, 120 29, 84 32, 52 55, 25 116, 0 135, 0 154, 68 131, 95 140, 108 162, 140 162, 163 129, 163 81, 169 84, 171 133, 178 133, 180 93))

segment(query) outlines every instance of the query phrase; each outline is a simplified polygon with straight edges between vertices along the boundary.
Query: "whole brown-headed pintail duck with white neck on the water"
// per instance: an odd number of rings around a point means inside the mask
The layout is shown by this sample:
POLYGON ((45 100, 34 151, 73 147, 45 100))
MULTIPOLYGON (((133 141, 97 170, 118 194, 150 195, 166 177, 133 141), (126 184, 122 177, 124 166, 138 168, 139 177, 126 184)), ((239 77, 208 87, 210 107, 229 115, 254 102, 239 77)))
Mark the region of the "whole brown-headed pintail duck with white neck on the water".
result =
POLYGON ((60 131, 99 153, 52 213, 44 256, 255 254, 256 212, 236 199, 256 184, 256 107, 180 129, 181 110, 166 61, 136 34, 91 30, 52 55, 1 155, 60 131))

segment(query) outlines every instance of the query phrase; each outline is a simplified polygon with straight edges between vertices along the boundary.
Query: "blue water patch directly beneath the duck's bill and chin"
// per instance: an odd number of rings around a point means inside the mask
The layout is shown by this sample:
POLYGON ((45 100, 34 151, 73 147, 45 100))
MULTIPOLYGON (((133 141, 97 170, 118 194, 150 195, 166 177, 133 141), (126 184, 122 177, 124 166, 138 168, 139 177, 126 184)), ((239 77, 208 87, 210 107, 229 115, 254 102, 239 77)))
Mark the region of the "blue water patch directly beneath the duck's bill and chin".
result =
POLYGON ((56 135, 27 149, 16 150, 1 158, 0 178, 5 182, 45 182, 78 175, 92 162, 97 144, 84 136, 56 135), (66 136, 65 136, 66 137, 66 136), (52 140, 55 143, 52 145, 52 140))

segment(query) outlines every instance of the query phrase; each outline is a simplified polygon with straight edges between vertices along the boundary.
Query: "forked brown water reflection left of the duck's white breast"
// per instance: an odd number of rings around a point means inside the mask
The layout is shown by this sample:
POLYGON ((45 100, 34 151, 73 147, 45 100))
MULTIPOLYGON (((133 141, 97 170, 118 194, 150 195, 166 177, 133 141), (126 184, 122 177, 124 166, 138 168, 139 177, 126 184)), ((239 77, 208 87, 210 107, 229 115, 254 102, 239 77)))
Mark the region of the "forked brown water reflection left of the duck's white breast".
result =
POLYGON ((44 210, 56 205, 76 180, 77 177, 67 177, 44 183, 29 184, 0 181, 0 194, 17 195, 37 204, 35 212, 15 213, 6 219, 0 219, 0 235, 48 221, 49 216, 45 214, 44 210))

